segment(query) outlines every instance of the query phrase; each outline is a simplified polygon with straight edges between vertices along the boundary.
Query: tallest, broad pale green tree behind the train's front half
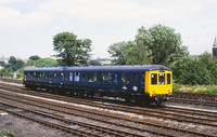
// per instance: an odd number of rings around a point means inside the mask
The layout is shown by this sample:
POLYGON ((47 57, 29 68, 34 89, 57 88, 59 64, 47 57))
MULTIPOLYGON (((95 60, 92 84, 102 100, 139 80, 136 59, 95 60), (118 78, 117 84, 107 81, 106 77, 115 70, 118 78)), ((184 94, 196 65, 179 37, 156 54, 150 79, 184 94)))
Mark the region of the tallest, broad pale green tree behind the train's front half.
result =
POLYGON ((183 56, 188 56, 189 52, 181 44, 180 33, 176 33, 175 29, 163 25, 155 25, 149 29, 139 28, 136 36, 138 49, 140 52, 149 52, 146 55, 150 64, 159 64, 170 66, 183 56))

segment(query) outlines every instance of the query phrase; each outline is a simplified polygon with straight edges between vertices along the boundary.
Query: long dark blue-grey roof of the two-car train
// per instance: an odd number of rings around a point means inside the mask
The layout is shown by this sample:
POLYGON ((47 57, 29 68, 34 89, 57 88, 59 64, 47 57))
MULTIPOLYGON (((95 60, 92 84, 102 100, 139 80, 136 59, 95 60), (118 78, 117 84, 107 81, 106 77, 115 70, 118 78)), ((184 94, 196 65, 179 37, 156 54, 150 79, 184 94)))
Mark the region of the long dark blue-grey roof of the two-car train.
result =
POLYGON ((94 67, 58 67, 58 68, 28 68, 24 71, 154 71, 169 70, 162 65, 141 65, 141 66, 94 66, 94 67))

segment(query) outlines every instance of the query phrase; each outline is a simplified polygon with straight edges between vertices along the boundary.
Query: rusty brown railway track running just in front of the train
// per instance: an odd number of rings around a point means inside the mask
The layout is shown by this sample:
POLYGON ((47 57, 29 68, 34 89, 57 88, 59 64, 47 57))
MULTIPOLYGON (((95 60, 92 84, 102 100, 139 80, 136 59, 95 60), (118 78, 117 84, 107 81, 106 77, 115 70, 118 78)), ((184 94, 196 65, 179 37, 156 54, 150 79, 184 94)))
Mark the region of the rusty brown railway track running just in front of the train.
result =
MULTIPOLYGON (((17 88, 15 90, 17 91, 17 88)), ((26 93, 29 94, 29 92, 30 91, 26 93)), ((137 113, 137 114, 142 114, 142 115, 156 117, 156 118, 161 118, 165 120, 175 120, 179 122, 188 122, 188 123, 195 123, 195 124, 209 125, 209 126, 217 127, 217 113, 213 113, 213 112, 204 113, 204 112, 197 112, 197 110, 192 110, 194 112, 192 111, 189 112, 189 109, 180 111, 180 110, 175 110, 175 109, 169 110, 168 108, 164 110, 163 108, 141 108, 141 107, 119 106, 115 104, 106 105, 106 104, 93 102, 92 100, 88 100, 88 99, 80 99, 80 98, 72 99, 71 97, 58 96, 58 95, 46 94, 46 93, 37 93, 37 92, 31 92, 31 95, 58 99, 58 100, 64 100, 67 102, 73 102, 73 104, 87 105, 87 106, 98 107, 102 109, 111 109, 111 110, 116 110, 116 111, 124 111, 124 112, 137 113), (206 117, 207 114, 209 117, 206 117)))

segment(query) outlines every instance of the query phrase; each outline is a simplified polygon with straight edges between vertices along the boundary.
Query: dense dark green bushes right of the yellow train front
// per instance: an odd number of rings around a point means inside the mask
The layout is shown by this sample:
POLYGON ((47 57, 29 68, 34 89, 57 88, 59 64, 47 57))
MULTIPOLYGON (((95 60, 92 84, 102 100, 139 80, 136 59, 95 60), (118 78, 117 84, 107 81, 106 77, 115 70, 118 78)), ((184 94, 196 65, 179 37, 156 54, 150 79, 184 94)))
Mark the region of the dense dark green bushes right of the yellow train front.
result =
POLYGON ((207 53, 199 59, 184 58, 176 64, 174 80, 181 84, 217 84, 217 61, 207 53))

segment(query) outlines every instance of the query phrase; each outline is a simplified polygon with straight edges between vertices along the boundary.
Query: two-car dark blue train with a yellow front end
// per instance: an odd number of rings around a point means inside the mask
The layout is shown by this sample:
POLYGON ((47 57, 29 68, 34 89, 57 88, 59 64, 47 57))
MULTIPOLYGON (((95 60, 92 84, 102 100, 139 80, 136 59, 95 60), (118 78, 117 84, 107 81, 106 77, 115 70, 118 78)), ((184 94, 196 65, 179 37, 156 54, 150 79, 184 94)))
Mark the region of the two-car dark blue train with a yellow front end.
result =
POLYGON ((137 102, 161 104, 173 92, 171 70, 162 65, 28 68, 23 83, 30 90, 113 96, 137 102))

